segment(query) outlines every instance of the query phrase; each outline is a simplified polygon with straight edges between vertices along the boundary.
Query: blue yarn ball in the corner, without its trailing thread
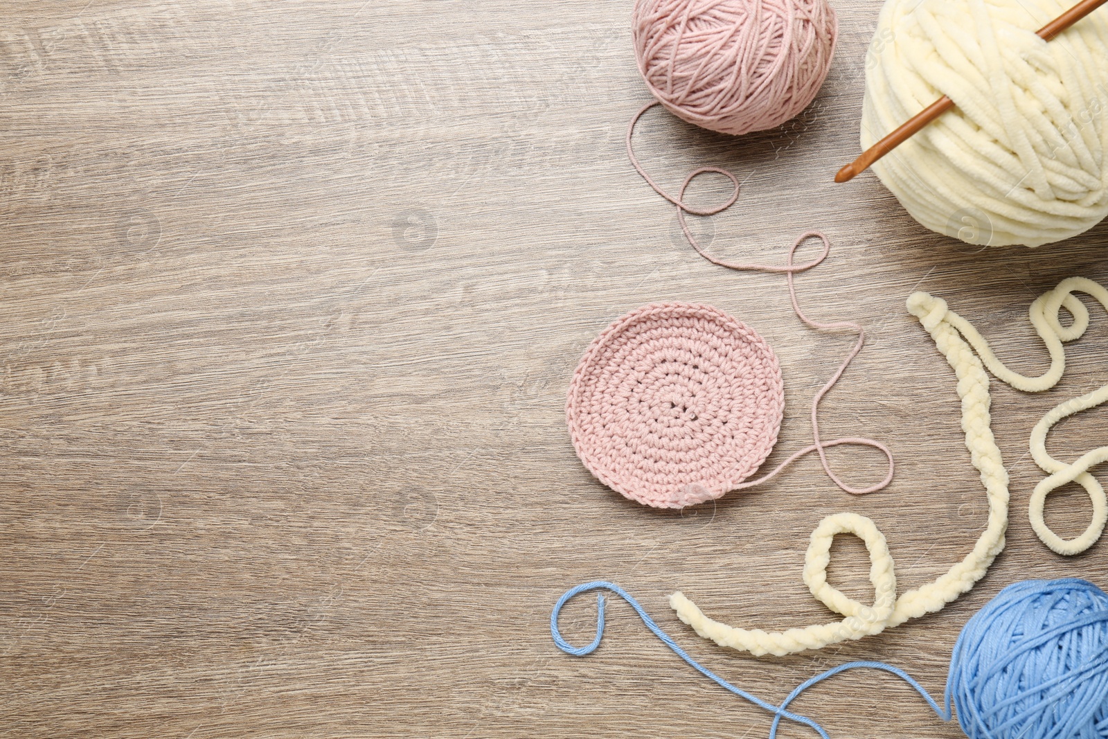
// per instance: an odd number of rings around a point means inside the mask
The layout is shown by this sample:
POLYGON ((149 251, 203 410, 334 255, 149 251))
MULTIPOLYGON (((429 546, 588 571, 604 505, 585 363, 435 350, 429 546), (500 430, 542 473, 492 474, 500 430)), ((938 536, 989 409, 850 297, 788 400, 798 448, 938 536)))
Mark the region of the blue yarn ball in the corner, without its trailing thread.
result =
POLYGON ((1028 579, 970 622, 947 705, 970 739, 1108 737, 1108 594, 1084 579, 1028 579))

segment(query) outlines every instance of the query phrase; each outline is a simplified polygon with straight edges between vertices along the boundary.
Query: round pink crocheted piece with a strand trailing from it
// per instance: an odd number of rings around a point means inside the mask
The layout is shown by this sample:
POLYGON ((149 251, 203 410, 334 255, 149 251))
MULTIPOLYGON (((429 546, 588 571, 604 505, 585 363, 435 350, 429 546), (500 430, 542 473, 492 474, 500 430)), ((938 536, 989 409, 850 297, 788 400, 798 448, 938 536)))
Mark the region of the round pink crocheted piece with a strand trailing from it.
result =
POLYGON ((676 509, 753 473, 783 409, 777 356, 753 329, 711 306, 661 302, 596 337, 574 372, 566 419, 597 480, 676 509))

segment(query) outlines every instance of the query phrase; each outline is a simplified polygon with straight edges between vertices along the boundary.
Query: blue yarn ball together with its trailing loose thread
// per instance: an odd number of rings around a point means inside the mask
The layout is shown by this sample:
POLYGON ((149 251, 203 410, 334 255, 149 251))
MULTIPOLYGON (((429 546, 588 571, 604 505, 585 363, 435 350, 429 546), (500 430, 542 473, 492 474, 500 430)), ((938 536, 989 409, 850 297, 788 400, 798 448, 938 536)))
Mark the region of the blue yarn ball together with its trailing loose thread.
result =
POLYGON ((781 719, 814 729, 823 727, 788 710, 804 690, 851 669, 891 673, 919 692, 944 721, 952 718, 970 739, 1105 739, 1108 737, 1108 595, 1084 579, 1023 581, 1005 587, 970 619, 951 657, 944 705, 911 675, 881 661, 852 661, 798 685, 774 706, 738 688, 693 659, 654 622, 626 591, 605 581, 566 591, 551 612, 551 636, 557 648, 583 657, 601 646, 604 595, 596 597, 596 637, 584 647, 558 630, 562 607, 589 591, 609 591, 626 601, 646 627, 698 673, 740 698, 773 714, 769 739, 781 719))

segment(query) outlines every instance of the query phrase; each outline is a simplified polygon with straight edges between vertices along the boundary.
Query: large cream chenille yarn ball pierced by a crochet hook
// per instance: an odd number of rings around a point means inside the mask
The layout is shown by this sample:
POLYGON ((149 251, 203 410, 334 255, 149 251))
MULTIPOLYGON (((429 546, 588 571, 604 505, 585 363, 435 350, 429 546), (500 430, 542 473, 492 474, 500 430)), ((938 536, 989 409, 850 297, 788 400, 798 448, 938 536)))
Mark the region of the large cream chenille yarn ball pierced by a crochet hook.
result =
POLYGON ((956 107, 873 165, 927 228, 1039 246, 1108 215, 1108 13, 1053 41, 1073 0, 888 0, 866 64, 862 146, 942 95, 956 107))

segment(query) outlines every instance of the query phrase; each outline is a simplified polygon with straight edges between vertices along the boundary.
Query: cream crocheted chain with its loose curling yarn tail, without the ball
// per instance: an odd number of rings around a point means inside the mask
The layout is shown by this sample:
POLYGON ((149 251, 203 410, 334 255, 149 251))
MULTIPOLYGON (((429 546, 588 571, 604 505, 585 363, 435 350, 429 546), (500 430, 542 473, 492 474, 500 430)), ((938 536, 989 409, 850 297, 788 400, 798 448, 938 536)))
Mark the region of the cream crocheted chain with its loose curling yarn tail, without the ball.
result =
MULTIPOLYGON (((1004 550, 1004 534, 1008 526, 1008 474, 1001 461, 989 425, 988 376, 984 367, 1001 380, 1019 390, 1036 392, 1053 388, 1066 367, 1061 343, 1085 333, 1089 312, 1074 292, 1086 292, 1108 310, 1108 290, 1081 277, 1063 280, 1053 290, 1039 296, 1030 306, 1029 317, 1050 355, 1050 368, 1040 377, 1028 378, 1006 368, 989 349, 988 342, 964 318, 951 310, 946 302, 926 292, 914 292, 907 299, 909 311, 920 319, 935 340, 935 346, 954 368, 957 392, 962 399, 962 429, 966 435, 971 462, 981 472, 988 499, 988 523, 966 555, 938 579, 896 597, 896 577, 893 558, 885 537, 872 520, 855 513, 827 516, 812 532, 804 555, 804 584, 821 603, 844 618, 829 624, 784 632, 736 628, 712 620, 681 593, 669 596, 669 605, 678 618, 691 626, 700 636, 724 647, 749 651, 756 656, 787 655, 806 649, 819 649, 847 639, 859 639, 886 628, 940 610, 951 601, 968 591, 981 579, 996 555, 1004 550), (1061 326, 1058 315, 1065 308, 1073 322, 1061 326), (977 353, 974 353, 976 350, 977 353), (979 356, 979 357, 978 357, 979 356), (984 363, 984 366, 983 366, 984 363), (830 562, 831 542, 837 534, 854 534, 865 543, 870 553, 870 582, 873 584, 872 606, 864 606, 848 598, 828 585, 827 566, 830 562)), ((1051 458, 1046 451, 1046 434, 1063 418, 1092 408, 1108 400, 1108 386, 1080 398, 1059 403, 1032 432, 1030 450, 1036 463, 1049 474, 1032 494, 1029 515, 1032 526, 1047 546, 1059 554, 1084 552, 1099 537, 1108 520, 1105 491, 1089 474, 1089 468, 1108 461, 1108 447, 1100 447, 1071 464, 1051 458), (1043 504, 1047 494, 1067 482, 1077 482, 1092 501, 1092 521, 1080 536, 1063 540, 1043 521, 1043 504)))

